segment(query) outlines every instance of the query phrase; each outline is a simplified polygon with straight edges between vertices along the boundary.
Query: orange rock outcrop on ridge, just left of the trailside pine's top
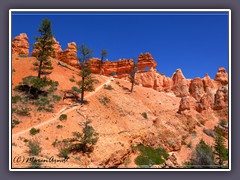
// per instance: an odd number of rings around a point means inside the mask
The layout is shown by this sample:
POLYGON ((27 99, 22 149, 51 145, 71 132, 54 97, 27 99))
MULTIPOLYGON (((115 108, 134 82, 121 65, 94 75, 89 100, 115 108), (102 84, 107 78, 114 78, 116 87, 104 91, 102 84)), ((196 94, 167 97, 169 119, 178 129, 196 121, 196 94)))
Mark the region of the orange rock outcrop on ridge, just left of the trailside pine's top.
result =
POLYGON ((77 59, 77 45, 75 42, 68 43, 68 47, 63 52, 59 53, 59 60, 73 67, 79 68, 77 59))

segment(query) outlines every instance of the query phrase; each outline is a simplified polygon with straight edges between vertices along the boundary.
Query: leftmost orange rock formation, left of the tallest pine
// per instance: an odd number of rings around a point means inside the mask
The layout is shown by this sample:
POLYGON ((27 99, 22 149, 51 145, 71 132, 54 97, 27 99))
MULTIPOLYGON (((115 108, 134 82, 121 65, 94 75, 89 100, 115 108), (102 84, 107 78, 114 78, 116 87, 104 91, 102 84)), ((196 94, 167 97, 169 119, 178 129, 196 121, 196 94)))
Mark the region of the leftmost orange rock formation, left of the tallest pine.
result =
POLYGON ((16 36, 12 41, 12 54, 28 56, 29 44, 28 37, 25 33, 16 36))

